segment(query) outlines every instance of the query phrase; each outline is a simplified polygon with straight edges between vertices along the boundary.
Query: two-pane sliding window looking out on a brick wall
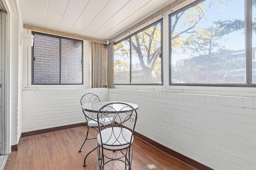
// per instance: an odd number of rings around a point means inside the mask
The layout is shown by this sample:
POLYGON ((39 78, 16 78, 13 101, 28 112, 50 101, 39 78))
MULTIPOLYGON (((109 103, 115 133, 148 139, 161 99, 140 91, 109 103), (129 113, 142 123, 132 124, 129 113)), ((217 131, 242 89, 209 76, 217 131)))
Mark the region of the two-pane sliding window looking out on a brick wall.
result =
POLYGON ((32 84, 82 84, 83 42, 34 32, 32 84))

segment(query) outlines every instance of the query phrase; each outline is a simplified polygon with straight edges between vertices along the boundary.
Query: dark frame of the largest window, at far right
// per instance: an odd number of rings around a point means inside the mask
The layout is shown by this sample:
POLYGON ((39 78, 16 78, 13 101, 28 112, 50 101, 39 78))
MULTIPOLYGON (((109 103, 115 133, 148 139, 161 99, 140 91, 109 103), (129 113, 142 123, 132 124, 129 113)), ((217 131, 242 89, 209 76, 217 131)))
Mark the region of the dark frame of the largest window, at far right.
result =
POLYGON ((205 0, 196 0, 190 4, 168 14, 168 41, 169 41, 169 86, 223 86, 223 87, 256 87, 252 84, 252 1, 244 0, 244 20, 245 20, 245 57, 246 57, 246 83, 245 84, 193 84, 193 83, 172 83, 172 40, 171 40, 171 20, 172 16, 192 8, 196 4, 205 0))

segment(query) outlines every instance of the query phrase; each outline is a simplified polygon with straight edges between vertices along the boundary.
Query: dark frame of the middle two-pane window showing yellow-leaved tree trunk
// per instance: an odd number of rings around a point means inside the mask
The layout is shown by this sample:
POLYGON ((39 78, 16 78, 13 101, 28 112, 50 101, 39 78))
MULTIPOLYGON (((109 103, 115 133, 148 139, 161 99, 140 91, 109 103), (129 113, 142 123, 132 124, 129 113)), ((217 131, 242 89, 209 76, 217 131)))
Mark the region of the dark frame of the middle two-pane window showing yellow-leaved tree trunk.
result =
MULTIPOLYGON (((157 20, 157 21, 154 21, 154 22, 152 22, 152 23, 150 23, 149 25, 147 25, 146 27, 143 27, 142 29, 139 29, 138 31, 135 31, 134 33, 132 33, 132 34, 130 34, 130 35, 128 35, 128 36, 126 36, 126 37, 124 37, 124 38, 122 38, 122 39, 120 39, 119 41, 116 41, 115 43, 114 43, 114 45, 116 45, 116 44, 118 44, 118 43, 121 43, 122 41, 126 41, 127 39, 130 39, 129 40, 129 42, 131 42, 131 37, 132 36, 134 36, 134 35, 136 35, 136 34, 138 34, 138 33, 140 33, 140 32, 142 32, 142 31, 144 31, 144 30, 146 30, 146 29, 148 29, 148 28, 150 28, 150 27, 152 27, 153 25, 157 25, 158 23, 160 23, 160 30, 161 30, 161 33, 160 33, 160 35, 161 35, 161 49, 160 49, 160 58, 161 58, 161 83, 158 83, 158 84, 156 84, 156 83, 147 83, 147 84, 142 84, 142 83, 138 83, 138 84, 132 84, 131 82, 132 82, 132 71, 131 71, 131 69, 132 69, 132 45, 131 45, 131 43, 130 43, 130 83, 128 84, 115 84, 114 83, 114 85, 129 85, 129 86, 136 86, 136 85, 139 85, 139 86, 141 86, 141 85, 157 85, 157 86, 163 86, 163 83, 164 83, 164 76, 163 76, 163 18, 160 18, 159 20, 157 20)), ((113 56, 114 57, 114 56, 113 56)), ((113 64, 114 64, 114 60, 113 60, 113 64)))

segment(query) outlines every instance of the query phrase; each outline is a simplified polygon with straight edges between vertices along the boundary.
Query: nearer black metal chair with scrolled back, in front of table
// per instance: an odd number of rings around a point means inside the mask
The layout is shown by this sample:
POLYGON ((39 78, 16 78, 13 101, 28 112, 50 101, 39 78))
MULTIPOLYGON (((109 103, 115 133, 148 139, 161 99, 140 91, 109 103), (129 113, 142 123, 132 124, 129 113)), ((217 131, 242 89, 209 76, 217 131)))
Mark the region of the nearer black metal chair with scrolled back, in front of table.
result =
POLYGON ((132 157, 133 157, 133 149, 134 149, 133 133, 134 133, 134 128, 137 121, 136 109, 134 109, 134 107, 126 103, 112 102, 110 104, 106 104, 105 106, 101 107, 101 109, 97 113, 97 119, 98 119, 98 127, 103 127, 98 129, 99 134, 97 139, 98 146, 101 148, 101 154, 102 154, 102 157, 99 160, 99 169, 104 170, 104 165, 106 165, 108 162, 118 160, 118 161, 124 162, 125 170, 127 170, 127 167, 128 167, 128 170, 132 170, 131 165, 132 165, 132 157), (120 110, 114 110, 113 107, 111 107, 112 104, 122 104, 124 107, 122 107, 120 110), (124 111, 124 110, 127 110, 127 111, 124 111), (111 127, 103 125, 101 120, 110 119, 110 117, 112 117, 111 127), (132 126, 132 128, 128 129, 126 127, 127 126, 126 124, 129 124, 128 126, 132 126), (111 134, 110 135, 111 137, 109 139, 103 138, 102 140, 102 135, 103 135, 102 132, 104 130, 108 131, 108 133, 105 133, 105 135, 111 134), (130 135, 128 135, 129 137, 127 137, 126 139, 124 134, 127 132, 130 133, 130 135), (112 149, 112 147, 115 147, 115 148, 112 149), (122 155, 116 156, 115 158, 113 158, 113 157, 107 156, 104 153, 104 150, 111 150, 113 152, 120 151, 122 155), (106 162, 105 162, 105 158, 108 158, 106 162), (124 160, 121 158, 124 158, 124 160))

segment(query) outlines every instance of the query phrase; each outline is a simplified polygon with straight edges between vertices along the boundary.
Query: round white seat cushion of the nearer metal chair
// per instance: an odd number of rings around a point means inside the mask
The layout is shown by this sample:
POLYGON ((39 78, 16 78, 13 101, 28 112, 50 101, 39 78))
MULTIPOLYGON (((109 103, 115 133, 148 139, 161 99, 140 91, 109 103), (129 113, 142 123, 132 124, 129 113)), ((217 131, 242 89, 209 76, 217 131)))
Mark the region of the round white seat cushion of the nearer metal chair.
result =
MULTIPOLYGON (((106 144, 103 147, 111 150, 125 149, 129 146, 131 137, 132 137, 131 144, 133 143, 133 135, 130 130, 122 128, 122 133, 120 131, 121 131, 121 127, 113 127, 114 133, 112 133, 112 128, 103 129, 100 132, 102 135, 102 141, 103 141, 102 143, 106 144), (116 139, 117 137, 118 137, 118 141, 116 139), (108 146, 108 145, 112 145, 112 146, 108 146)), ((97 141, 98 141, 98 144, 101 146, 100 133, 97 136, 97 141)))

